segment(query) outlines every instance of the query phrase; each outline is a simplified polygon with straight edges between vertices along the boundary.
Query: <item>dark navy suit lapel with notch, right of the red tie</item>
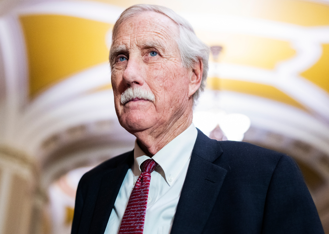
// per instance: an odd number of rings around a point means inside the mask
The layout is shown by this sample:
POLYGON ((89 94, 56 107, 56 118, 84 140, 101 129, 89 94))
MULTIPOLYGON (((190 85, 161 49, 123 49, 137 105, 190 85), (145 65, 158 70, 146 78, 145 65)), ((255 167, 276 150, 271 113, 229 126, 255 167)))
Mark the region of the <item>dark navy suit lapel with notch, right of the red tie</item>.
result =
POLYGON ((218 142, 198 129, 171 234, 202 232, 226 176, 226 169, 213 164, 222 153, 218 142))

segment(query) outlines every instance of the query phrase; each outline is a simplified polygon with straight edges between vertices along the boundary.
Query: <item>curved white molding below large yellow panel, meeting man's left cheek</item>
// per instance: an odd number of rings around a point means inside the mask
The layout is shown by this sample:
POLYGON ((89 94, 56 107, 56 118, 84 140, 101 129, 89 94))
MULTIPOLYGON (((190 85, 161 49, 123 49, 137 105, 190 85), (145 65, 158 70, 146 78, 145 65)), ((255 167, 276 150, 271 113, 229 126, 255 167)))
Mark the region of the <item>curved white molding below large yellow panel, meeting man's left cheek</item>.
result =
POLYGON ((51 135, 83 123, 117 117, 112 90, 106 90, 69 100, 25 123, 16 142, 35 155, 40 144, 51 135))

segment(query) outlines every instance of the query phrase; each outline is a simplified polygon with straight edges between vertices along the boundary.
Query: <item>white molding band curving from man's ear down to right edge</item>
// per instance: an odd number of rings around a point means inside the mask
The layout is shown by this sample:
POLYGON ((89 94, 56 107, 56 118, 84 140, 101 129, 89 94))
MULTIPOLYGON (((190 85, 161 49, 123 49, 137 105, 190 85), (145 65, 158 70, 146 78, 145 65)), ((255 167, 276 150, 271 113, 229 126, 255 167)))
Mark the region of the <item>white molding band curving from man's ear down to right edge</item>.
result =
POLYGON ((283 63, 281 65, 282 69, 267 70, 237 64, 210 63, 209 76, 273 86, 329 120, 329 94, 299 75, 289 75, 293 71, 292 66, 290 71, 281 71, 285 70, 283 63))

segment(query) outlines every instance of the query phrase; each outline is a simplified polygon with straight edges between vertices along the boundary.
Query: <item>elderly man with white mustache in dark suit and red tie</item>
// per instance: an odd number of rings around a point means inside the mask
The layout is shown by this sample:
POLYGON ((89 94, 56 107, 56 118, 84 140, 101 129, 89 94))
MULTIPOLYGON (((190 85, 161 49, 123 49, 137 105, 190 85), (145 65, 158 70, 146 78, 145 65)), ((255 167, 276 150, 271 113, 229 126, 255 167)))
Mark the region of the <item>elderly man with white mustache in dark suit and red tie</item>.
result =
POLYGON ((137 139, 133 151, 82 177, 72 234, 323 233, 292 159, 194 127, 208 56, 170 9, 135 5, 120 15, 110 51, 114 103, 137 139))

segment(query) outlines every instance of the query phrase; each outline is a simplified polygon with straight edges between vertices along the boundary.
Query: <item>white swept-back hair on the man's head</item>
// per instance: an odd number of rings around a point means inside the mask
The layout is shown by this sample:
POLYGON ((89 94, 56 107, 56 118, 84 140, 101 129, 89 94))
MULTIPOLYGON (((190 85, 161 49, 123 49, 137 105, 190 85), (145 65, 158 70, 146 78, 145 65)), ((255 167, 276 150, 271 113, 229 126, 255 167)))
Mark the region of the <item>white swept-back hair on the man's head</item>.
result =
MULTIPOLYGON (((145 11, 153 11, 163 14, 170 19, 172 19, 179 28, 179 35, 177 36, 177 45, 181 56, 182 66, 185 68, 193 68, 193 65, 199 60, 203 63, 203 74, 202 81, 199 89, 193 94, 193 101, 195 102, 201 92, 204 90, 207 73, 208 73, 208 59, 209 59, 209 47, 203 43, 195 34, 190 23, 184 19, 182 16, 175 13, 173 10, 158 6, 158 5, 148 5, 148 4, 138 4, 127 8, 121 13, 118 20, 115 22, 113 27, 112 38, 114 39, 117 30, 122 22, 129 18, 133 18, 136 15, 142 14, 145 11)), ((111 47, 112 50, 112 47, 111 47)), ((110 51, 110 64, 113 66, 113 56, 112 51, 110 51)))

